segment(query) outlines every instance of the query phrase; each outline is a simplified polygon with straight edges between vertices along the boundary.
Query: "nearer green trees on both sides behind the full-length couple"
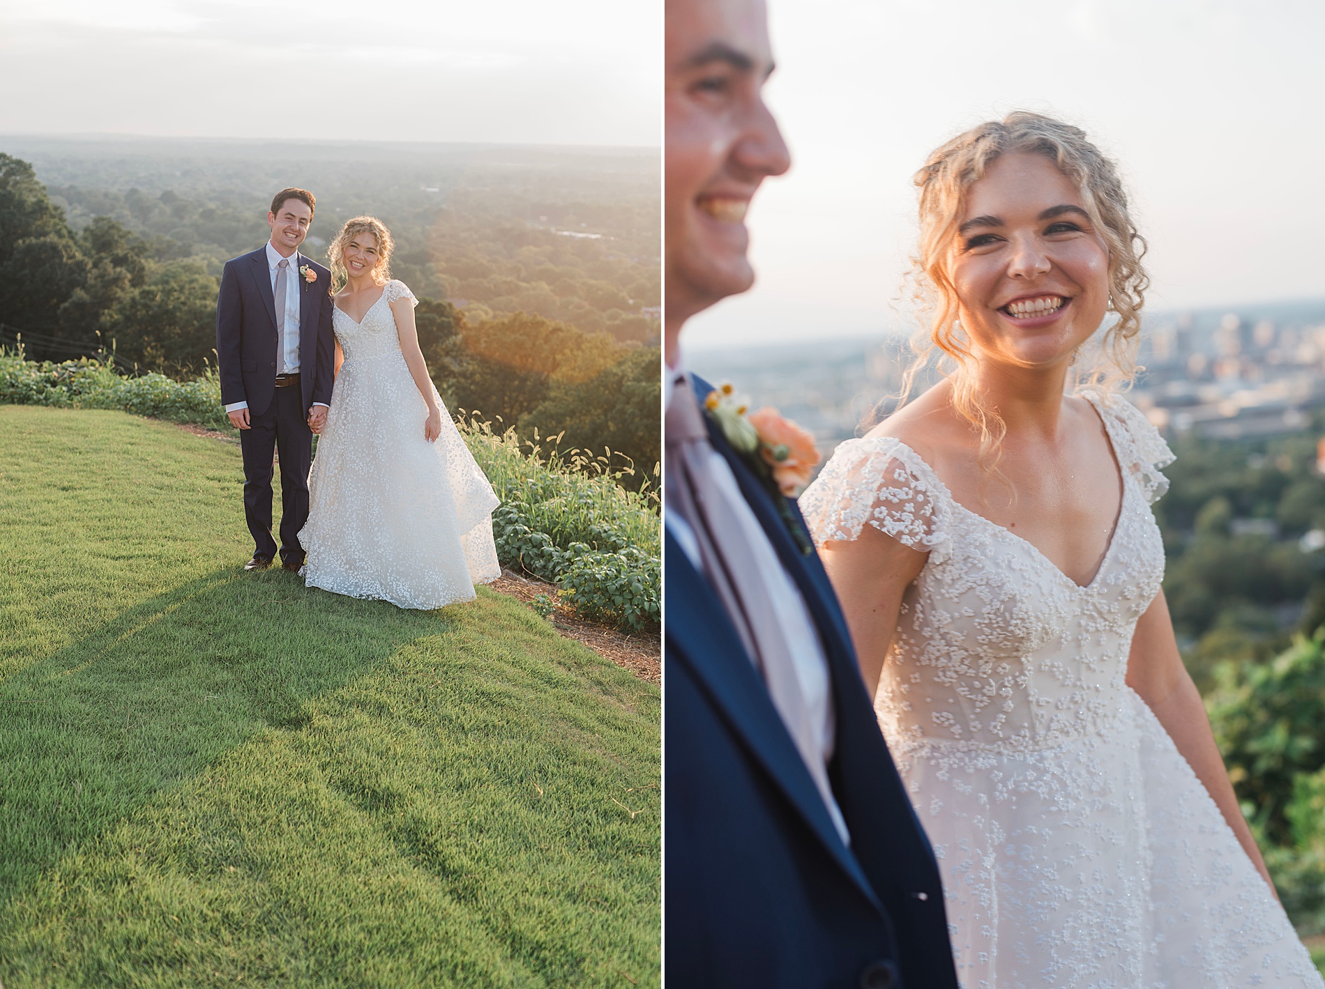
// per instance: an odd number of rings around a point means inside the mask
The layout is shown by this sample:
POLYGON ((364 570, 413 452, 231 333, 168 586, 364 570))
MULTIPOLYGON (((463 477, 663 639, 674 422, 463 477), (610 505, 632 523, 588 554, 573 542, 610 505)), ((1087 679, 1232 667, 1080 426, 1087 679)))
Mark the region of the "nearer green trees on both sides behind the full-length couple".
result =
MULTIPOLYGON (((148 205, 170 211, 182 201, 163 195, 148 205)), ((228 234, 242 238, 242 250, 265 236, 260 222, 235 224, 228 234)), ((184 253, 175 237, 148 238, 110 216, 74 230, 32 165, 0 154, 0 343, 26 331, 25 351, 36 359, 102 351, 121 369, 193 377, 216 360, 219 278, 208 269, 219 265, 184 253)), ((562 449, 608 450, 613 470, 633 467, 624 483, 656 486, 656 346, 538 312, 465 311, 427 294, 416 315, 428 367, 453 410, 526 437, 559 434, 562 449)))

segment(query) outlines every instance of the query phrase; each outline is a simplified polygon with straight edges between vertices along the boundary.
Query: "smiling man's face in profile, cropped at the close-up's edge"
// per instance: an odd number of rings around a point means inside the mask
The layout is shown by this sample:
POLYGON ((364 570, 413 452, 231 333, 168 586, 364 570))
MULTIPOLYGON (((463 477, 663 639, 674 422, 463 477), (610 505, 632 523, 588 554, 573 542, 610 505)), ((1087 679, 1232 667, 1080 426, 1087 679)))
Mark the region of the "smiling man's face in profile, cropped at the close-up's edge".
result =
POLYGON ((669 328, 754 283, 746 208, 791 159, 763 102, 772 71, 762 0, 666 3, 669 328))

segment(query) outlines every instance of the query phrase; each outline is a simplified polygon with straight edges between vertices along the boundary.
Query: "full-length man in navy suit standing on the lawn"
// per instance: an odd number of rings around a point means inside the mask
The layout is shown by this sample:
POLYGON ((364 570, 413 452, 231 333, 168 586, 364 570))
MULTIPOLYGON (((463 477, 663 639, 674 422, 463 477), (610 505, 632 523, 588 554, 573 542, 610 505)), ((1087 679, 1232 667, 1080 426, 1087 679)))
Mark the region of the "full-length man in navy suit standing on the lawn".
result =
POLYGON ((266 214, 272 238, 225 262, 216 301, 221 401, 240 430, 244 518, 253 534, 246 571, 276 559, 272 458, 281 453, 281 564, 303 565, 299 530, 309 518, 313 433, 331 401, 331 273, 299 254, 317 200, 281 189, 266 214))

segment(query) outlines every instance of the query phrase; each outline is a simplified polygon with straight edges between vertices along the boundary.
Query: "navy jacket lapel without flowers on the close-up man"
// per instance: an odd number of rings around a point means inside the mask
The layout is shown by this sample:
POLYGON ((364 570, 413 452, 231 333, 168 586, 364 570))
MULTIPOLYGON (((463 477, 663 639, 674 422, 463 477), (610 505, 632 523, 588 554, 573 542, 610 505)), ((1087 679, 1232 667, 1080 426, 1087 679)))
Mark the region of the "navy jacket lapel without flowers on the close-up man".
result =
POLYGON ((669 651, 669 657, 690 669, 843 871, 856 882, 871 903, 878 906, 860 863, 837 835, 810 771, 772 706, 767 686, 712 587, 694 569, 670 532, 665 542, 668 608, 686 616, 685 621, 666 625, 668 641, 677 646, 669 651))

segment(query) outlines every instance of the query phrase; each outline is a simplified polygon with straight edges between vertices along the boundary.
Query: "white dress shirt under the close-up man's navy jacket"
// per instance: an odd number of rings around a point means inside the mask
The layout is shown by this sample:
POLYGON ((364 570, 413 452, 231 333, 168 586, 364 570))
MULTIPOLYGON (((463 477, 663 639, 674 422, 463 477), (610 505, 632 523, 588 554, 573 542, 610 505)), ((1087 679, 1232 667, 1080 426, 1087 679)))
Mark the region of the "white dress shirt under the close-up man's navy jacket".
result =
MULTIPOLYGON (((670 404, 672 393, 677 388, 692 388, 690 377, 680 363, 676 368, 668 368, 670 387, 665 389, 666 402, 670 404)), ((754 511, 741 494, 735 474, 727 465, 726 458, 717 450, 712 453, 710 467, 713 479, 722 491, 723 500, 735 514, 741 523, 745 540, 759 561, 759 573, 763 577, 768 597, 772 600, 778 624, 782 626, 783 639, 795 663, 796 681, 800 683, 800 692, 804 696, 806 707, 815 726, 815 735, 819 739, 819 748, 824 757, 824 769, 832 761, 836 743, 836 723, 832 707, 832 683, 828 674, 828 658, 824 655, 819 633, 815 630, 814 618, 806 606, 806 600, 800 596, 795 581, 778 559, 778 551, 768 542, 763 526, 755 518, 754 511)), ((694 568, 702 572, 700 560, 700 544, 690 524, 677 512, 664 510, 664 522, 672 538, 681 545, 682 552, 689 557, 694 568)), ((851 834, 847 830, 847 821, 841 816, 841 809, 836 801, 828 800, 828 816, 832 818, 837 833, 843 841, 851 845, 851 834)))

